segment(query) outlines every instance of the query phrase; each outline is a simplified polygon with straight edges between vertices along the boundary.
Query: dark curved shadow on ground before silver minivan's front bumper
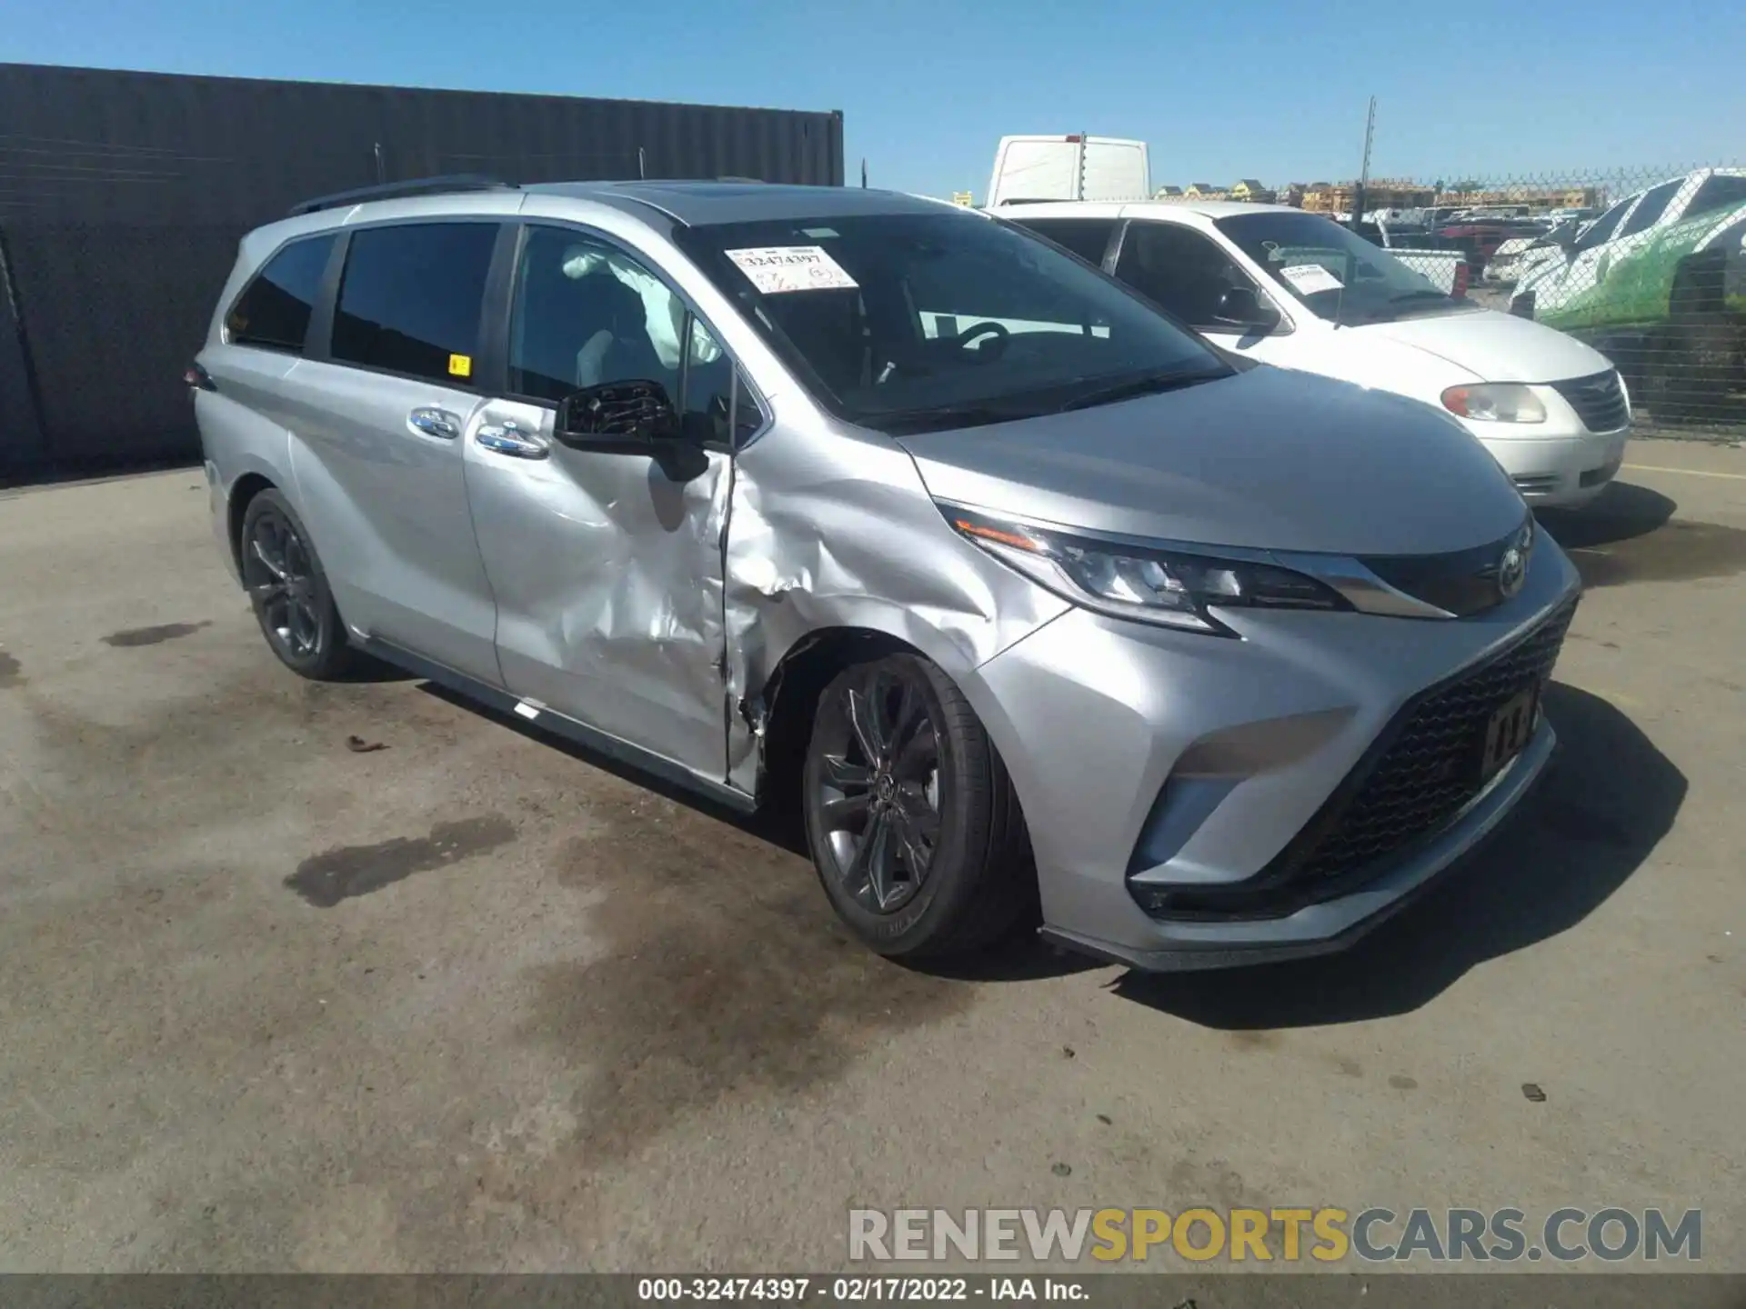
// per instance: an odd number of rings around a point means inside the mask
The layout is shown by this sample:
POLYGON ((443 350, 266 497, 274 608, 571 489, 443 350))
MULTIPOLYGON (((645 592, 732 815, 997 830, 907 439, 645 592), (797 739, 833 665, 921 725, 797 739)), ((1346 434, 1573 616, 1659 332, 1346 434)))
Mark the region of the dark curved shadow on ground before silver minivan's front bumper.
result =
POLYGON ((1624 714, 1552 684, 1559 749, 1540 785, 1468 860, 1343 955, 1198 974, 1126 974, 1116 993, 1224 1030, 1404 1014, 1468 969, 1580 923, 1650 855, 1685 775, 1624 714))

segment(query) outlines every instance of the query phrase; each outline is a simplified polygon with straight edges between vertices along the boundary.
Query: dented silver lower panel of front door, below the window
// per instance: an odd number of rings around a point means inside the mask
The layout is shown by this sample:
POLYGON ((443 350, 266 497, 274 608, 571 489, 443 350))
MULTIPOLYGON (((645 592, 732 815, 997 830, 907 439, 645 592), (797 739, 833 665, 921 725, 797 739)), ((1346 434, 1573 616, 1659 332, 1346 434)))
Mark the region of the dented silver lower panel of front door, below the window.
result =
POLYGON ((721 780, 730 456, 663 469, 571 450, 552 410, 508 400, 484 407, 466 456, 505 688, 721 780))

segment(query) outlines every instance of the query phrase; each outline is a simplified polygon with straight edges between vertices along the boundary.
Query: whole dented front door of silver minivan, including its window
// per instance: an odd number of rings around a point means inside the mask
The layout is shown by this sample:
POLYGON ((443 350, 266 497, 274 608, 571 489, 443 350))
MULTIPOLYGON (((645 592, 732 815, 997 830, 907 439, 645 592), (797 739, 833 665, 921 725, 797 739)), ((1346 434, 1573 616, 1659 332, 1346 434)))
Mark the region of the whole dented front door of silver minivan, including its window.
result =
POLYGON ((466 433, 503 684, 719 782, 732 454, 714 393, 732 360, 643 264, 562 227, 520 241, 506 337, 506 394, 466 433), (552 438, 560 396, 630 379, 660 382, 681 412, 660 452, 552 438))

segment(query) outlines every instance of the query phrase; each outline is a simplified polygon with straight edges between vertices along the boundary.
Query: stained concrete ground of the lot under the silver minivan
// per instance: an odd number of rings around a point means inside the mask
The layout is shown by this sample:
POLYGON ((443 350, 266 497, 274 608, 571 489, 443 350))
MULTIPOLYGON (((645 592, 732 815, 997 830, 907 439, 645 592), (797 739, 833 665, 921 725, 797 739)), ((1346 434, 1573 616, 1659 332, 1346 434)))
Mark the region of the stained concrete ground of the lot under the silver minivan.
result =
POLYGON ((1739 450, 1549 520, 1591 592, 1500 840, 1350 955, 1163 979, 904 970, 766 829, 300 682, 204 508, 0 496, 0 1269, 793 1271, 849 1206, 1198 1203, 1702 1206, 1746 1267, 1739 450))

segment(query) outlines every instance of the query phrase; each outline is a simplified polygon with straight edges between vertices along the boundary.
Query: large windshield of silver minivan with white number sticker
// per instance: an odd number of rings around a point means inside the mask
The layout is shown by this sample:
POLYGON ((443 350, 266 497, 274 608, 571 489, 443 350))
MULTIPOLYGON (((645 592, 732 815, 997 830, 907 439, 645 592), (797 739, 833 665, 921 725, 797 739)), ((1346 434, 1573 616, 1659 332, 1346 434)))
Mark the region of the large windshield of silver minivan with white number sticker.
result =
POLYGON ((1231 372, 1187 328, 1011 223, 964 211, 674 234, 838 417, 967 428, 1231 372))

